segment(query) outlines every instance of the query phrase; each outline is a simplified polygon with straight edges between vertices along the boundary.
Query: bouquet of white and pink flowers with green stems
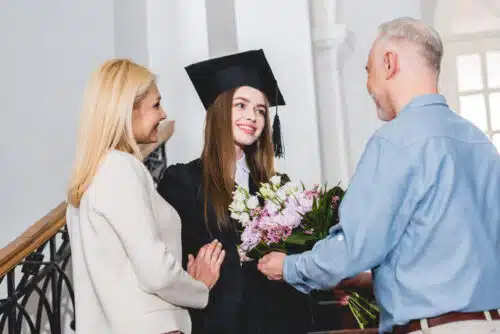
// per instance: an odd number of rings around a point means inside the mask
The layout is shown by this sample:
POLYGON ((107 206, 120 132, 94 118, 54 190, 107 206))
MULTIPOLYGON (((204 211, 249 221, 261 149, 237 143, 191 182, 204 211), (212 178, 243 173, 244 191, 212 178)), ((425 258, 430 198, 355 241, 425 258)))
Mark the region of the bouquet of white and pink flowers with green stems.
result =
MULTIPOLYGON (((240 253, 258 259, 272 251, 293 254, 312 249, 339 222, 343 196, 339 185, 306 189, 279 175, 262 183, 256 195, 237 187, 229 211, 241 224, 240 253)), ((357 292, 350 295, 348 306, 360 328, 377 317, 377 305, 357 292)))

